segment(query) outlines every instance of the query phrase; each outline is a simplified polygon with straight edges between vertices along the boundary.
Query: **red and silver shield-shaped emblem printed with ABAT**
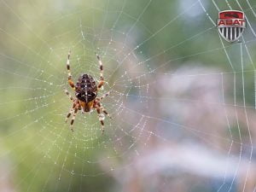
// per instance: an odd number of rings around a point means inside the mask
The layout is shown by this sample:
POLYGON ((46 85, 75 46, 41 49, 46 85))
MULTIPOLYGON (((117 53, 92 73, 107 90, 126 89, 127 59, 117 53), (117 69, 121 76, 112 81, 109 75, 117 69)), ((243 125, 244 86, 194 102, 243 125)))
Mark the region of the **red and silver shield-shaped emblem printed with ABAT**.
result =
POLYGON ((241 37, 246 27, 245 15, 238 10, 224 10, 218 13, 218 32, 228 42, 232 43, 241 37))

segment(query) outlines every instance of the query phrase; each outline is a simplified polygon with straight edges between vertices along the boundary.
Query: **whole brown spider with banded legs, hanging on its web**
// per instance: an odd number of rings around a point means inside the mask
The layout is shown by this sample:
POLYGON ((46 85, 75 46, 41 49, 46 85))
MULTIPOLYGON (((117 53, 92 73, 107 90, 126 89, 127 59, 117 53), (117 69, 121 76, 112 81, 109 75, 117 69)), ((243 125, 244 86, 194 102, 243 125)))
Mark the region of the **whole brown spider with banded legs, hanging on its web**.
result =
POLYGON ((100 65, 100 71, 101 71, 101 80, 98 85, 96 85, 95 80, 90 76, 90 74, 85 74, 85 73, 79 77, 77 84, 74 84, 71 76, 71 72, 70 72, 70 55, 71 55, 71 51, 69 51, 67 55, 67 73, 68 73, 67 82, 71 86, 71 88, 75 91, 76 98, 73 98, 73 96, 71 96, 68 90, 65 90, 67 96, 69 96, 69 99, 73 102, 73 106, 67 113, 67 118, 65 122, 67 123, 67 119, 73 114, 73 118, 71 119, 71 123, 70 123, 71 130, 73 131, 73 122, 79 110, 82 110, 82 113, 84 113, 84 112, 91 112, 93 109, 96 109, 98 113, 99 121, 102 124, 102 133, 103 133, 104 132, 103 120, 105 119, 105 115, 103 113, 107 114, 110 119, 112 118, 108 114, 106 109, 102 107, 102 104, 101 104, 102 99, 108 96, 110 92, 108 91, 108 93, 105 93, 101 97, 96 97, 98 90, 100 90, 102 88, 102 85, 104 84, 102 60, 100 56, 96 54, 97 60, 100 65))

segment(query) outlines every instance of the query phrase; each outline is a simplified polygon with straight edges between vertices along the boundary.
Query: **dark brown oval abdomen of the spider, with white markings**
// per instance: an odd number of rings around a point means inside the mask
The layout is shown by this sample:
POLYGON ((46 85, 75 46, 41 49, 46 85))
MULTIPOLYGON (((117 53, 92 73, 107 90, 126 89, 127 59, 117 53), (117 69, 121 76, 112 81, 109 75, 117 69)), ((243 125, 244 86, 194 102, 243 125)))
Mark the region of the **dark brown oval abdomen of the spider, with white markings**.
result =
POLYGON ((93 101, 97 96, 95 80, 88 74, 82 74, 76 84, 76 97, 85 103, 93 101))

